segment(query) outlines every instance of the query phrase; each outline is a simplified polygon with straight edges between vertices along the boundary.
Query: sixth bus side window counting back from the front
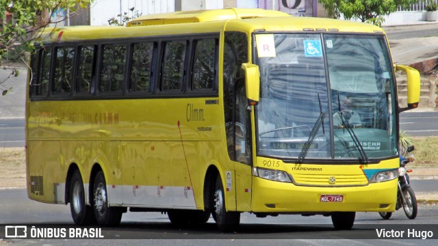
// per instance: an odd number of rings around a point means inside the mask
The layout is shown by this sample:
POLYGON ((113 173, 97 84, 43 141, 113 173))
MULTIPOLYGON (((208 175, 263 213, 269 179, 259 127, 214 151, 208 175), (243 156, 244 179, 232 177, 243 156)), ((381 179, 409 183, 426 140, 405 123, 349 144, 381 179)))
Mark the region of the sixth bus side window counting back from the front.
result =
POLYGON ((73 64, 75 64, 75 48, 57 47, 55 59, 55 77, 53 79, 53 94, 69 94, 73 79, 73 64))

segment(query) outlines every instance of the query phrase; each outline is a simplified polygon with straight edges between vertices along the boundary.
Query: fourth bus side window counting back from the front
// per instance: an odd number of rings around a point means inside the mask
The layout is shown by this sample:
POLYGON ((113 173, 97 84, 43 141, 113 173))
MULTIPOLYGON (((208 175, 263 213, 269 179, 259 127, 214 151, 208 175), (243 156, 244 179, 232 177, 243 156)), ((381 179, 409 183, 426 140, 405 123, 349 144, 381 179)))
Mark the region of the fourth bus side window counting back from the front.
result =
POLYGON ((125 80, 126 45, 103 46, 99 92, 122 92, 125 80))

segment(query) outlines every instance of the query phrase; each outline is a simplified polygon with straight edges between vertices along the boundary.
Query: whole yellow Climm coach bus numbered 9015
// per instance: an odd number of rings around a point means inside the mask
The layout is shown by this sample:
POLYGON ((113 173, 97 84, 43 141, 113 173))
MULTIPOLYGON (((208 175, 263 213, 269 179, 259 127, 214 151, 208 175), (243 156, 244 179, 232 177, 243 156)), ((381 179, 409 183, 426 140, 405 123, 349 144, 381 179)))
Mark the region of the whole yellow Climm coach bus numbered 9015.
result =
POLYGON ((27 88, 31 200, 70 204, 77 225, 129 209, 222 231, 244 212, 349 229, 356 212, 394 211, 398 113, 420 97, 381 28, 259 9, 55 28, 27 88))

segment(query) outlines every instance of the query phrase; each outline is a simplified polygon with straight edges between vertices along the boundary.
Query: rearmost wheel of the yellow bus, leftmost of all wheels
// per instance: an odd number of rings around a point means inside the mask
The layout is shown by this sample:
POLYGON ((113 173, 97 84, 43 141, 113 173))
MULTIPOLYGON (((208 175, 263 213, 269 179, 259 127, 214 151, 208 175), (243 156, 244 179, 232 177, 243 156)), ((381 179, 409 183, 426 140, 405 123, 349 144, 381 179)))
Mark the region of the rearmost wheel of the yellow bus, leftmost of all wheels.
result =
POLYGON ((91 206, 86 205, 83 181, 79 170, 73 172, 68 187, 68 200, 70 201, 70 213, 75 225, 90 226, 96 223, 91 206))

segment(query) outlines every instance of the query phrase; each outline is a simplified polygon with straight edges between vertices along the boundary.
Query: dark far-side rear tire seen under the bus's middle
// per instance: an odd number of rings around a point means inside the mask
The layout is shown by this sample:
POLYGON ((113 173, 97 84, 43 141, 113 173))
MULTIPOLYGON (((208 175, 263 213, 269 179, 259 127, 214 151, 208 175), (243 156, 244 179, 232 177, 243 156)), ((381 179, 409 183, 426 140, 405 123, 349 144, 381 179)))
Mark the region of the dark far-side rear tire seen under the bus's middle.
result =
POLYGON ((168 210, 167 215, 174 226, 206 223, 210 218, 209 211, 200 210, 168 210))

